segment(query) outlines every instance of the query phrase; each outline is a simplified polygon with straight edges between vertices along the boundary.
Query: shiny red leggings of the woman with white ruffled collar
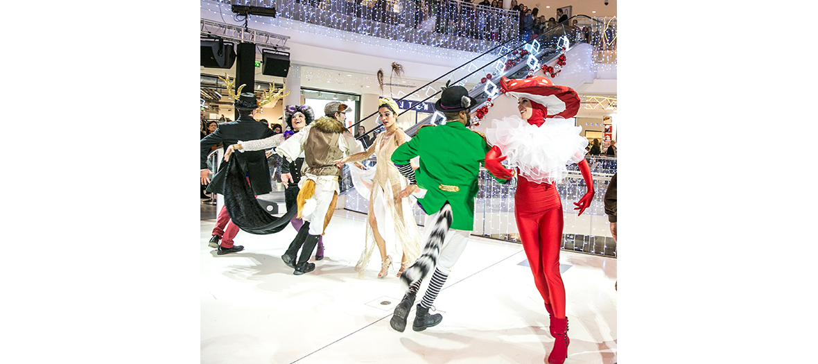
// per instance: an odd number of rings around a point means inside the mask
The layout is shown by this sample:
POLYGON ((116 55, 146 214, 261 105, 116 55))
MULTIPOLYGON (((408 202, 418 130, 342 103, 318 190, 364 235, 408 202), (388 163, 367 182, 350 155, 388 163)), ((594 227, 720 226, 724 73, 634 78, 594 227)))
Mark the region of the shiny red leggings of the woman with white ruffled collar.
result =
POLYGON ((556 318, 565 318, 565 287, 560 276, 563 211, 556 186, 517 178, 515 218, 534 285, 556 318))

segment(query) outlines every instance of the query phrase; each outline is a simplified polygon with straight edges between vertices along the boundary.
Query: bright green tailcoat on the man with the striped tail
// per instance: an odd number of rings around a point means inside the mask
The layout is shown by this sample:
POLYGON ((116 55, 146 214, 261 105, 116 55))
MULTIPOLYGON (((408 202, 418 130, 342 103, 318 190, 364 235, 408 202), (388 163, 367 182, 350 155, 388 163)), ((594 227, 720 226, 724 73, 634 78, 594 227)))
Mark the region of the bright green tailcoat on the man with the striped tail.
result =
MULTIPOLYGON (((452 205, 452 229, 474 230, 474 195, 479 189, 477 177, 486 153, 491 149, 485 138, 450 121, 418 129, 415 137, 398 146, 392 154, 394 164, 409 164, 420 155, 415 171, 417 185, 426 191, 418 200, 429 215, 438 212, 448 201, 452 205), (441 185, 443 189, 441 189, 441 185), (457 186, 460 191, 444 191, 457 186)), ((505 179, 496 178, 505 183, 505 179)))

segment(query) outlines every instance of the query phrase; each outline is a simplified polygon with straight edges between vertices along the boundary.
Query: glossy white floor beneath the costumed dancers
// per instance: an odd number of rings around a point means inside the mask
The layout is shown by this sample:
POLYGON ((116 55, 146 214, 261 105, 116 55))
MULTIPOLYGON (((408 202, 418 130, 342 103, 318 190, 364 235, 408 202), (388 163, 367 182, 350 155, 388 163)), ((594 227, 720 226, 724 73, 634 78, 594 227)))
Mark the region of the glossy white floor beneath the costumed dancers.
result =
MULTIPOLYGON (((218 256, 207 246, 214 221, 201 221, 201 362, 543 362, 554 339, 522 245, 471 236, 434 303, 443 322, 415 332, 413 309, 399 333, 389 326, 404 291, 397 271, 378 279, 377 252, 366 278, 354 269, 365 218, 336 210, 326 258, 303 276, 281 261, 293 228, 267 236, 240 231, 235 242, 245 250, 218 256)), ((617 260, 563 251, 560 263, 571 339, 566 363, 615 362, 617 260)))

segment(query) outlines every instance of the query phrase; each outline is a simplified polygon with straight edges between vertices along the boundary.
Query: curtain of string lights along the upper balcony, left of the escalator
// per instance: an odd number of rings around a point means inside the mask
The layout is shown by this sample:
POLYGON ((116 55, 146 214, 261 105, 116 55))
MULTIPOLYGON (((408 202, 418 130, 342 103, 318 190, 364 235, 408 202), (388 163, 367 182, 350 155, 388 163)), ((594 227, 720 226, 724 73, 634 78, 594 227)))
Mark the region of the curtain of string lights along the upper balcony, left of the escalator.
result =
POLYGON ((452 0, 219 0, 275 7, 276 16, 398 42, 485 52, 519 35, 519 11, 452 0))

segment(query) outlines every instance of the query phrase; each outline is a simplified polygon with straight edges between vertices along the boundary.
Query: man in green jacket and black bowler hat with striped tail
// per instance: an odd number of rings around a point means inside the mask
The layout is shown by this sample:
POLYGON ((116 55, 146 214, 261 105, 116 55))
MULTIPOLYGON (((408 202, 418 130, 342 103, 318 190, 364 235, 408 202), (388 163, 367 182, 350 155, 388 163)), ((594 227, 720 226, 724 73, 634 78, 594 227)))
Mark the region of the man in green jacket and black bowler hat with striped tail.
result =
MULTIPOLYGON (((474 229, 474 195, 479 189, 480 164, 491 150, 483 134, 466 128, 470 125, 470 109, 476 103, 461 86, 444 89, 434 108, 443 112, 446 124, 421 127, 411 141, 398 146, 392 154, 392 162, 410 183, 398 197, 415 193, 418 204, 429 215, 424 230, 425 248, 401 275, 409 288, 390 321, 395 330, 402 332, 406 328, 420 282, 432 270, 432 281, 417 305, 412 330, 425 330, 443 320, 439 313, 429 315, 429 308, 474 229), (420 156, 420 168, 413 171, 409 160, 416 156, 420 156)), ((497 178, 497 182, 507 180, 497 178)))

